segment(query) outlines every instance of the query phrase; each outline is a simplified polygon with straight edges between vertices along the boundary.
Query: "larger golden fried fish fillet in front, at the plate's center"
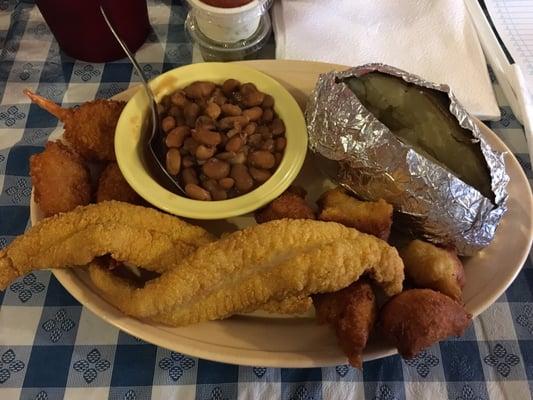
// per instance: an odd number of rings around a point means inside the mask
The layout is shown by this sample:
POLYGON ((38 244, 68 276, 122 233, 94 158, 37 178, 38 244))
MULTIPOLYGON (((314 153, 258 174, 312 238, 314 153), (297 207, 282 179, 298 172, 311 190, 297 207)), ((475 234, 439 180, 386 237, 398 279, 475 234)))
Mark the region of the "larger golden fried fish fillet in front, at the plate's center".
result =
POLYGON ((136 289, 91 266, 103 297, 128 315, 180 326, 261 308, 287 297, 334 292, 365 272, 393 295, 402 290, 395 248, 332 222, 279 220, 202 246, 136 289))

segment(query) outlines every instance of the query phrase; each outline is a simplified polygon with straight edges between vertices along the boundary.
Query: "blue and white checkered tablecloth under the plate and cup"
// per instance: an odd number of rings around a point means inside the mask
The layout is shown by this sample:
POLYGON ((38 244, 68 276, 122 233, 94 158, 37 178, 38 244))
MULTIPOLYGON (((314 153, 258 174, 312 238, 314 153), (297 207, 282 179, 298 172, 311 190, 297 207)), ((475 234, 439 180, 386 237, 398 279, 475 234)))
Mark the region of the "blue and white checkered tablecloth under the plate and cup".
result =
MULTIPOLYGON (((187 64, 180 2, 149 2, 153 27, 137 57, 149 76, 187 64)), ((91 64, 63 54, 32 1, 0 0, 0 247, 28 226, 28 159, 57 120, 22 89, 71 106, 138 82, 125 60, 91 64)), ((502 119, 491 127, 533 178, 520 124, 494 83, 502 119)), ((417 358, 364 370, 273 369, 215 363, 144 343, 105 323, 49 272, 0 292, 0 399, 529 399, 533 384, 533 265, 466 334, 417 358)))

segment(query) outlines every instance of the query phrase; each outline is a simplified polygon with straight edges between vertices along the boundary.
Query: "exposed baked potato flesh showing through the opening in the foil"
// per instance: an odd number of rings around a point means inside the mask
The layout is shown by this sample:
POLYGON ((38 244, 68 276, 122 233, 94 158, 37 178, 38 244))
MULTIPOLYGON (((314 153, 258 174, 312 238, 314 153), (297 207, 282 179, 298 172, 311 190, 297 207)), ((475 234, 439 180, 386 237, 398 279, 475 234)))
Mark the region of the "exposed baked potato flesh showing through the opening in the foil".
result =
POLYGON ((494 197, 479 141, 450 113, 448 96, 380 72, 345 82, 397 139, 449 169, 485 197, 494 197))

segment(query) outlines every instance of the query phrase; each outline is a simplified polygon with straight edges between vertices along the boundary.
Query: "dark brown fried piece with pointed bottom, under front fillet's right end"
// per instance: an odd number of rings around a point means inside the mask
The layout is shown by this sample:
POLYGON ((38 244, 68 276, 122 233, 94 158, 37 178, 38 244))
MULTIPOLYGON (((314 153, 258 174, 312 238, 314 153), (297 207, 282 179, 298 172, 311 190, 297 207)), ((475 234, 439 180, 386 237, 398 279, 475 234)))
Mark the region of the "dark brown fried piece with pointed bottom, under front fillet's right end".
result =
POLYGON ((337 292, 312 297, 318 321, 331 325, 350 364, 362 368, 363 350, 377 314, 372 286, 359 280, 337 292))

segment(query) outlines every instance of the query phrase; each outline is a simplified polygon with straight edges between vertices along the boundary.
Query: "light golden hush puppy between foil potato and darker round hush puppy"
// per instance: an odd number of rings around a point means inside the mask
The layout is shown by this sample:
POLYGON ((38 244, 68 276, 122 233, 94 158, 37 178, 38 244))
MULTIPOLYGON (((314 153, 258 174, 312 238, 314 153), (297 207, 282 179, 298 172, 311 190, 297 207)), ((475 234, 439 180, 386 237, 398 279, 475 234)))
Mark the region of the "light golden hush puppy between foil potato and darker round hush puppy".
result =
POLYGON ((465 272, 455 251, 413 240, 400 250, 400 257, 406 276, 415 286, 438 290, 458 302, 463 301, 465 272))

